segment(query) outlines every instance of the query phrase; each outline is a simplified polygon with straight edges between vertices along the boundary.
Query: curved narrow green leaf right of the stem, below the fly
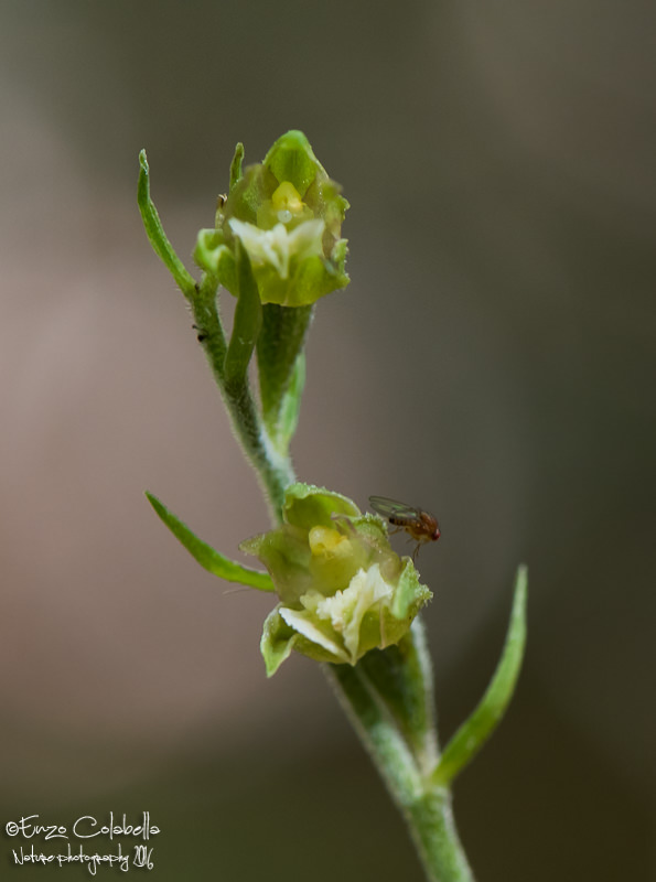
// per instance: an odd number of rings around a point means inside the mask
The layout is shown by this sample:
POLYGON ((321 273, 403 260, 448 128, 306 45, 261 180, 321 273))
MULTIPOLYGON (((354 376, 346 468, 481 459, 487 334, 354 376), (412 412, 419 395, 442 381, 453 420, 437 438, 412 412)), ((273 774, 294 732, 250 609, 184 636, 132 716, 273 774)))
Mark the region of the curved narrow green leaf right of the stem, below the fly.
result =
POLYGON ((513 698, 526 646, 527 593, 528 571, 521 566, 515 579, 510 622, 498 666, 480 704, 444 749, 431 778, 434 786, 447 786, 473 760, 499 724, 513 698))

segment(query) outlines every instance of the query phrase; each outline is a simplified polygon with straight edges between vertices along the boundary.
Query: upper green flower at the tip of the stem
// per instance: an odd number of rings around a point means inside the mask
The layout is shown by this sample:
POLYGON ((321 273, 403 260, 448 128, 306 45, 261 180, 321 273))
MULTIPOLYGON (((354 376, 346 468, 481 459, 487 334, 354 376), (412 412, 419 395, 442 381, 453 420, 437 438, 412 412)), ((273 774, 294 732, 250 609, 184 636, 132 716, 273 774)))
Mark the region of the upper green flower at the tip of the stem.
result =
POLYGON ((305 136, 289 131, 262 163, 238 174, 216 215, 215 229, 202 229, 194 257, 239 295, 237 247, 247 252, 262 303, 303 306, 348 283, 348 207, 305 136))

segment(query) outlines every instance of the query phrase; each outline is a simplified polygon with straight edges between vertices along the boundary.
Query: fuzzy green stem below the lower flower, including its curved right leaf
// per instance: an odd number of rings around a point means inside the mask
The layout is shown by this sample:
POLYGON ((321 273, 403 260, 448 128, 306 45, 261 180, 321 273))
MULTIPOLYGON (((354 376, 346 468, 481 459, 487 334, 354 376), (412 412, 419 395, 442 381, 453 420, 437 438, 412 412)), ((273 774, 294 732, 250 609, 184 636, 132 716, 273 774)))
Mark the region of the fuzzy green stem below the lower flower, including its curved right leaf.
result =
POLYGON ((473 882, 449 785, 496 729, 513 697, 526 646, 527 590, 521 566, 496 671, 441 757, 430 656, 418 620, 398 646, 374 649, 355 667, 330 666, 337 697, 402 811, 430 882, 473 882))

